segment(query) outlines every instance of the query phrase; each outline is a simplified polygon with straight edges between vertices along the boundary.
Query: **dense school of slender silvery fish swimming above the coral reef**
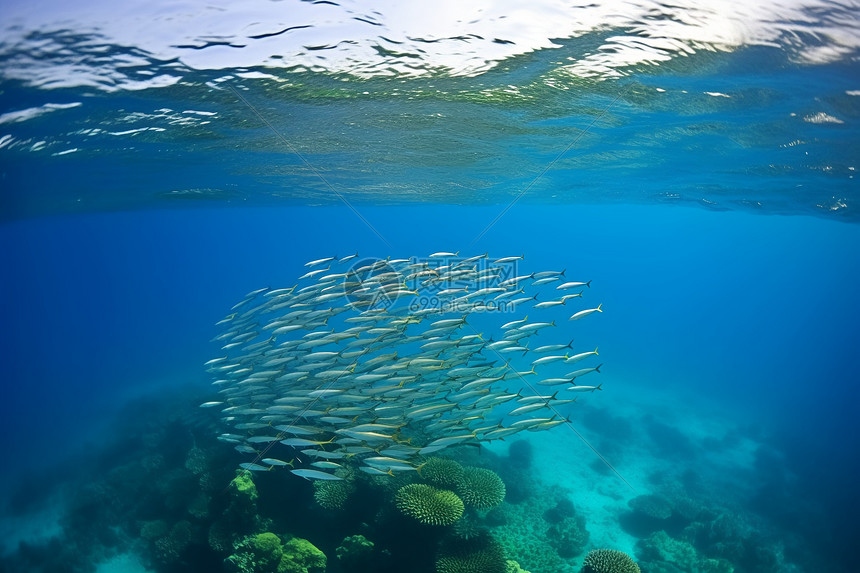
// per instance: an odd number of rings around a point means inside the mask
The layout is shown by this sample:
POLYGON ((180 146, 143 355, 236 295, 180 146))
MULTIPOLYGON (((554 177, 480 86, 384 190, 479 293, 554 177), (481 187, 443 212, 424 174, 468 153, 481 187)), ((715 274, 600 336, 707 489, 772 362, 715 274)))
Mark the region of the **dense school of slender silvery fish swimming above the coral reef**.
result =
POLYGON ((206 367, 220 397, 201 407, 220 408, 229 431, 218 439, 253 457, 245 470, 288 466, 312 480, 343 479, 347 465, 414 471, 450 446, 564 424, 576 393, 601 389, 579 383, 601 365, 567 365, 597 349, 549 344, 555 321, 512 313, 565 307, 591 281, 517 275, 522 262, 445 252, 310 261, 295 286, 250 292, 217 323, 225 354, 206 367))

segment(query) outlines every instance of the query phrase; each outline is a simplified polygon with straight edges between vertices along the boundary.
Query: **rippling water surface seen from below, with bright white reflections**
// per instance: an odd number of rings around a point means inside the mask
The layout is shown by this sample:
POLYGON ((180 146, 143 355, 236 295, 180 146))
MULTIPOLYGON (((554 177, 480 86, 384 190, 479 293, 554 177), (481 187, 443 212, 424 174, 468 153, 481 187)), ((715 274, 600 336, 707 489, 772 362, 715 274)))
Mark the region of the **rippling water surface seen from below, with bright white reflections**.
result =
POLYGON ((856 217, 854 3, 529 6, 13 2, 3 216, 334 188, 856 217))

